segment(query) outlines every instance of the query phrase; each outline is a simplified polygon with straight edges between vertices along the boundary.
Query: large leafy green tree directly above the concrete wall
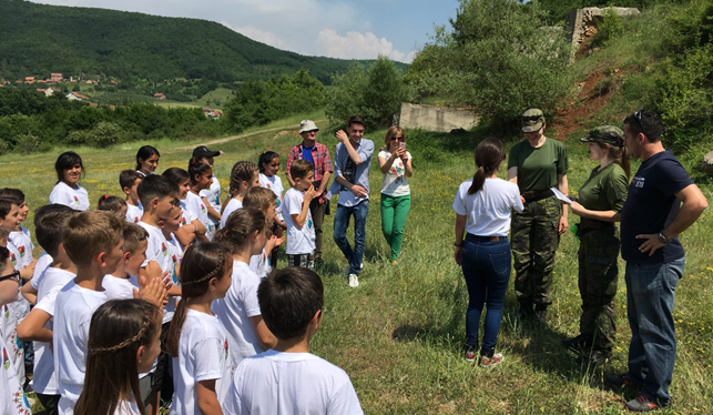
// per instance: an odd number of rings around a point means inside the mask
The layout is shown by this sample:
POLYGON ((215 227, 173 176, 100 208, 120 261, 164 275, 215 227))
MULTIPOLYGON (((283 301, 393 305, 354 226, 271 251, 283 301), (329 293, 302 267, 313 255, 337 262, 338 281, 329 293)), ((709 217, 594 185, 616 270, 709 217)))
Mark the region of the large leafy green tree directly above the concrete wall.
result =
POLYGON ((571 45, 561 28, 544 27, 537 1, 460 0, 452 32, 437 28, 409 79, 473 105, 493 124, 510 124, 528 108, 552 112, 567 94, 571 45))

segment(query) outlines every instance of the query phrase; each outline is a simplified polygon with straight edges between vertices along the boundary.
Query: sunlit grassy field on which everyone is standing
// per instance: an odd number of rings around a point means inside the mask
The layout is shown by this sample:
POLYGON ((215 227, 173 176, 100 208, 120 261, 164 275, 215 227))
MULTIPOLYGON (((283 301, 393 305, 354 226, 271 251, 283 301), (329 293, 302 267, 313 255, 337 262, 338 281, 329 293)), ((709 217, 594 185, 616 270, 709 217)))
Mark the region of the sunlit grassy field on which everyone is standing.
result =
MULTIPOLYGON (((309 114, 308 118, 319 117, 309 114)), ((221 184, 227 185, 235 161, 256 161, 258 154, 268 149, 283 154, 284 169, 291 146, 299 142, 298 121, 298 118, 282 121, 268 125, 267 132, 253 131, 211 145, 225 152, 216 158, 215 174, 221 184)), ((325 121, 317 124, 323 128, 318 141, 334 151, 335 128, 325 128, 325 121)), ((625 413, 623 402, 633 396, 611 392, 602 383, 604 374, 627 368, 630 331, 623 273, 617 298, 619 337, 613 360, 601 367, 580 367, 574 356, 560 346, 560 340, 578 333, 580 315, 578 245, 570 233, 562 235, 557 253, 554 303, 547 326, 522 324, 516 317, 517 302, 509 290, 498 344, 506 361, 492 370, 482 370, 464 360, 461 344, 468 295, 461 272, 452 260, 455 215, 450 206, 458 184, 473 172, 472 150, 483 136, 422 131, 407 131, 406 136, 414 154, 415 173, 409 180, 411 212, 399 265, 388 264, 387 245, 380 232, 381 174, 375 156, 365 267, 361 285, 356 290, 349 289, 339 275, 346 261, 330 237, 333 216, 325 223, 326 263, 318 271, 325 282, 326 304, 324 325, 313 340, 313 352, 347 371, 367 414, 625 413)), ((379 148, 384 131, 368 133, 366 138, 379 148)), ((519 139, 513 135, 507 146, 519 139)), ((142 144, 111 150, 75 149, 86 166, 81 184, 88 189, 92 205, 101 194, 120 193, 119 171, 134 166, 135 151, 142 144)), ((193 144, 197 143, 149 144, 161 150, 159 171, 163 171, 169 166, 185 166, 193 144)), ((570 188, 577 190, 594 162, 574 138, 567 145, 570 188)), ((32 209, 47 203, 55 182, 53 163, 58 153, 0 158, 2 185, 21 188, 32 209)), ((686 169, 692 170, 695 160, 684 156, 683 161, 686 169)), ((500 173, 503 176, 505 169, 500 173)), ((694 178, 706 198, 713 200, 711 181, 700 174, 694 178)), ((576 216, 571 215, 570 223, 574 222, 576 216)), ((707 242, 712 231, 711 215, 705 212, 681 236, 687 263, 675 307, 679 357, 671 385, 672 406, 663 413, 710 413, 713 406, 710 289, 713 261, 707 242)), ((284 265, 282 260, 278 266, 284 265)))

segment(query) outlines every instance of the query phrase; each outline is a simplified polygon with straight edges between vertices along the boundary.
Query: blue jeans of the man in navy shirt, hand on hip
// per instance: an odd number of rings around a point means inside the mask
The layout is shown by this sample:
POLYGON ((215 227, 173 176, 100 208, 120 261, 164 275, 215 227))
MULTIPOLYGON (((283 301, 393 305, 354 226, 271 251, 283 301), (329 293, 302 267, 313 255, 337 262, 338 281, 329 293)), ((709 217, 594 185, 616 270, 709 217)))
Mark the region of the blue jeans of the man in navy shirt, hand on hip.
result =
POLYGON ((662 264, 627 263, 627 314, 631 326, 627 377, 641 394, 668 405, 676 340, 673 303, 685 259, 662 264))

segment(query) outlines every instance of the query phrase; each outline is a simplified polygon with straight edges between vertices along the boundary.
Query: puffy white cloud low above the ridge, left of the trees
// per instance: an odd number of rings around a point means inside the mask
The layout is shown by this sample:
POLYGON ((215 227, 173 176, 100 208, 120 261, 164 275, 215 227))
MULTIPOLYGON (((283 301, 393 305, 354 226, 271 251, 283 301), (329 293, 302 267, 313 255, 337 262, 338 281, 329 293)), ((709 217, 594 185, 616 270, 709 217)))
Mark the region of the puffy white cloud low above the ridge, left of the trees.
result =
POLYGON ((330 58, 376 59, 383 54, 395 61, 414 59, 412 52, 408 55, 399 52, 386 38, 378 38, 373 32, 348 31, 346 36, 339 36, 332 29, 323 29, 317 34, 315 47, 319 53, 330 58))

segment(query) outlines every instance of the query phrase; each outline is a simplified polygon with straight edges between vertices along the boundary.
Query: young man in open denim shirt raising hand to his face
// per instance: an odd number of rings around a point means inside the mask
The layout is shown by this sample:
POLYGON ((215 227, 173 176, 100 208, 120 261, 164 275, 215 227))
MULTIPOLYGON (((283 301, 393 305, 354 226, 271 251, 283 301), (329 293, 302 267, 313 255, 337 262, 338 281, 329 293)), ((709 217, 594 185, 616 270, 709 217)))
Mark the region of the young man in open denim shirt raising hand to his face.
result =
POLYGON ((374 142, 363 139, 364 119, 349 117, 347 131, 337 131, 334 174, 329 193, 338 193, 337 212, 334 215, 334 241, 349 262, 345 270, 349 286, 359 286, 359 272, 366 245, 366 217, 369 213, 369 166, 374 154, 374 142), (354 249, 347 240, 349 217, 354 216, 354 249))

